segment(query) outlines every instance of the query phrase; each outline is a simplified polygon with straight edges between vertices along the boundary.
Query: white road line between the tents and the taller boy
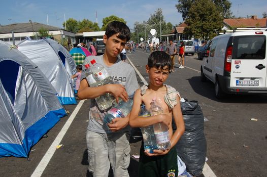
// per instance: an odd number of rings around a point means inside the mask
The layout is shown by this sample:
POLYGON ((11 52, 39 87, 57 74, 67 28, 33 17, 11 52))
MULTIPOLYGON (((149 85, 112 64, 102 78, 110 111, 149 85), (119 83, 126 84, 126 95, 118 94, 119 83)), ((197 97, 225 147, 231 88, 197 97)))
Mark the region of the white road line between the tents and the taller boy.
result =
POLYGON ((77 113, 79 112, 80 108, 82 107, 84 101, 85 100, 81 100, 79 102, 79 104, 76 106, 76 108, 74 109, 72 115, 69 117, 69 119, 66 121, 66 123, 64 124, 64 126, 60 130, 59 134, 57 135, 57 137, 55 138, 54 142, 51 144, 51 146, 47 150, 46 154, 44 155, 44 157, 42 158, 42 160, 40 161, 40 163, 36 167, 35 171, 31 174, 31 177, 37 177, 37 176, 41 176, 42 175, 42 173, 44 172, 47 164, 49 163, 50 159, 52 158, 53 154, 56 151, 56 146, 60 144, 61 140, 63 139, 63 137, 64 137, 64 135, 66 133, 66 131, 69 129, 69 127, 71 126, 74 118, 76 117, 77 113))

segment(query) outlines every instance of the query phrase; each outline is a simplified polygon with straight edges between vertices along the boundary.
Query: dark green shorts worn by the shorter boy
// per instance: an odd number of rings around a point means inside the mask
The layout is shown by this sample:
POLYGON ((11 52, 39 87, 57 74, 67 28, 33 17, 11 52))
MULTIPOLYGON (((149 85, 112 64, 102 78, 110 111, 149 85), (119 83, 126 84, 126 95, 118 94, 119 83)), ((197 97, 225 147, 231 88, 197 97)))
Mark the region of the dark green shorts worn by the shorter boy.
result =
POLYGON ((140 148, 138 176, 178 176, 176 148, 172 148, 166 155, 149 157, 144 153, 144 144, 142 142, 140 148))

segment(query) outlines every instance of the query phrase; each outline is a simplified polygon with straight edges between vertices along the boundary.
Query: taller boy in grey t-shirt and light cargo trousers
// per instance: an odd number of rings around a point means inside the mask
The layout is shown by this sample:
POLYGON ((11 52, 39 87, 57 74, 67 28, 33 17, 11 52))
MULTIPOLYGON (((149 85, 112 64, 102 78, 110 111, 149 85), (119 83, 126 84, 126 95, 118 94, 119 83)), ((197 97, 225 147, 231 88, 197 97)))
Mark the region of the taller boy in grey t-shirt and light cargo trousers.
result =
POLYGON ((126 42, 130 39, 130 29, 125 23, 113 21, 107 25, 103 39, 104 54, 86 57, 84 65, 94 59, 96 63, 105 67, 110 77, 118 84, 90 87, 83 74, 78 97, 81 100, 90 99, 91 101, 86 132, 88 170, 93 176, 108 177, 111 166, 114 176, 127 177, 129 176, 127 168, 130 163, 129 115, 115 118, 112 123, 106 124, 103 119, 109 109, 100 110, 94 98, 109 93, 117 101, 120 97, 126 102, 128 95, 132 95, 138 89, 135 70, 130 64, 118 58, 126 42))

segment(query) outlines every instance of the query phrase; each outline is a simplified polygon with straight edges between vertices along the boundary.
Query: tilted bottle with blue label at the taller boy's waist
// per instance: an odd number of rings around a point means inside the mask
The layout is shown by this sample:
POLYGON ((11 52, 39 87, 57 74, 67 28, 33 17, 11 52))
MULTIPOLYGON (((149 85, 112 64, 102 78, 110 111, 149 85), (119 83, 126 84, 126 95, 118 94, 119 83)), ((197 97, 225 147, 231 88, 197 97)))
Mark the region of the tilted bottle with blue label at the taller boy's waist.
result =
POLYGON ((104 117, 104 122, 110 123, 116 117, 126 117, 131 111, 132 104, 132 97, 129 97, 127 102, 119 102, 107 112, 106 116, 104 117))

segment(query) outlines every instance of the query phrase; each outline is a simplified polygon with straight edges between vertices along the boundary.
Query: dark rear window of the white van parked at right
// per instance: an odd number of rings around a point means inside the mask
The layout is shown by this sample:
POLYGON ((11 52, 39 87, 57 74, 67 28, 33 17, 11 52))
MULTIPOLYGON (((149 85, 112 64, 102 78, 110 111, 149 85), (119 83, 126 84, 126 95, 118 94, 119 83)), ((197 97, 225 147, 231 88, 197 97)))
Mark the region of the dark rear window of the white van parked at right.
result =
POLYGON ((265 35, 233 37, 233 59, 265 59, 265 35))

